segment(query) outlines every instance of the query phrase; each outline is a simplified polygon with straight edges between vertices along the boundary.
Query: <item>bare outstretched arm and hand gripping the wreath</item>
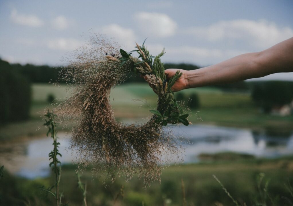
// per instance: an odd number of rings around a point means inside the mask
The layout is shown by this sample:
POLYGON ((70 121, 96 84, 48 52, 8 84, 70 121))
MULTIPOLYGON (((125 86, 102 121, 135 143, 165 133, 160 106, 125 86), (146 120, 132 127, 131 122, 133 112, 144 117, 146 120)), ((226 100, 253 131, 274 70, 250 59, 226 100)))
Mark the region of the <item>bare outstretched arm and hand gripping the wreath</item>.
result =
POLYGON ((177 70, 183 74, 172 86, 173 91, 234 83, 278 72, 293 72, 293 37, 269 49, 242 54, 197 70, 167 69, 167 78, 175 75, 177 70))

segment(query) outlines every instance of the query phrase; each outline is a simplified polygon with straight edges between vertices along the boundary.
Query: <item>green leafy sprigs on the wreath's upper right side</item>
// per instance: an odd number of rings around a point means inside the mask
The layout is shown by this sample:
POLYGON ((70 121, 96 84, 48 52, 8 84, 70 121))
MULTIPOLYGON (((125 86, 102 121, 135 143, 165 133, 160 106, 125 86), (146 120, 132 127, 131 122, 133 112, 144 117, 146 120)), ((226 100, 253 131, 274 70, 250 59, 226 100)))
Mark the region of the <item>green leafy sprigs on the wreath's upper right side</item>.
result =
POLYGON ((182 123, 188 125, 188 114, 184 114, 182 108, 176 101, 172 86, 181 77, 182 72, 179 70, 176 74, 170 78, 166 77, 164 64, 161 62, 161 57, 166 53, 165 49, 161 51, 157 56, 152 56, 144 45, 136 44, 135 50, 126 52, 120 49, 122 57, 120 66, 125 65, 127 62, 131 62, 134 65, 134 71, 139 72, 140 75, 147 77, 147 82, 154 86, 154 91, 159 96, 158 107, 156 110, 150 110, 156 117, 156 121, 161 125, 166 126, 169 124, 182 123), (139 54, 138 58, 131 56, 132 52, 139 54))

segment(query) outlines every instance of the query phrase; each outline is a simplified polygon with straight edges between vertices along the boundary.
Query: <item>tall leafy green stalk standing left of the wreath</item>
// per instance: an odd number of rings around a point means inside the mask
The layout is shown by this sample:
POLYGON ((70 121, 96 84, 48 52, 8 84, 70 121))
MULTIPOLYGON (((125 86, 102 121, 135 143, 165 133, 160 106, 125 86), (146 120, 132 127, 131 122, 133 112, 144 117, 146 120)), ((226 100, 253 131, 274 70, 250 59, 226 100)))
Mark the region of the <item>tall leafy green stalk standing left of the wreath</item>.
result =
POLYGON ((61 162, 59 161, 58 156, 61 157, 62 155, 59 153, 58 150, 60 143, 57 142, 57 123, 54 120, 55 117, 56 115, 48 110, 45 114, 45 123, 43 124, 43 126, 48 128, 47 136, 51 134, 51 138, 53 139, 54 148, 49 153, 49 160, 51 160, 49 167, 52 167, 52 170, 54 172, 55 184, 47 189, 45 188, 45 186, 42 186, 40 189, 44 190, 47 194, 52 195, 55 198, 57 206, 63 206, 67 204, 62 204, 63 193, 59 192, 59 183, 61 178, 61 162))

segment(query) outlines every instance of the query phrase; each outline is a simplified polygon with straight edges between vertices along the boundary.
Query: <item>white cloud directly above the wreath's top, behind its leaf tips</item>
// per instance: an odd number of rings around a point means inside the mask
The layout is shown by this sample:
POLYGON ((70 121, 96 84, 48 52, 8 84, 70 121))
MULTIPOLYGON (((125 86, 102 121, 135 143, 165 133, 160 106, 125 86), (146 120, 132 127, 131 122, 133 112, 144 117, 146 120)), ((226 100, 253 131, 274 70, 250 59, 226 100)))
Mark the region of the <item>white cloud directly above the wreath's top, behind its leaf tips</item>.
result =
POLYGON ((135 34, 132 29, 123 28, 117 24, 111 24, 102 28, 102 33, 108 37, 114 37, 118 43, 125 46, 127 50, 135 46, 135 34))

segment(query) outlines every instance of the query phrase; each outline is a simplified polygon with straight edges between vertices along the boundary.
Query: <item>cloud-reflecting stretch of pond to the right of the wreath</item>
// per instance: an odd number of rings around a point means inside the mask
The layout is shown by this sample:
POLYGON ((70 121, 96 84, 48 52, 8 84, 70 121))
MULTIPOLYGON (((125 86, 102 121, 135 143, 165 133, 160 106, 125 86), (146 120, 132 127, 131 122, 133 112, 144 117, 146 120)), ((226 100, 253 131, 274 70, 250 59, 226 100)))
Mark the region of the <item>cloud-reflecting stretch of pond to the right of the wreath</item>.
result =
POLYGON ((200 153, 237 152, 256 157, 278 157, 293 154, 293 133, 272 136, 265 131, 197 125, 174 127, 178 136, 190 139, 185 162, 198 161, 200 153))

